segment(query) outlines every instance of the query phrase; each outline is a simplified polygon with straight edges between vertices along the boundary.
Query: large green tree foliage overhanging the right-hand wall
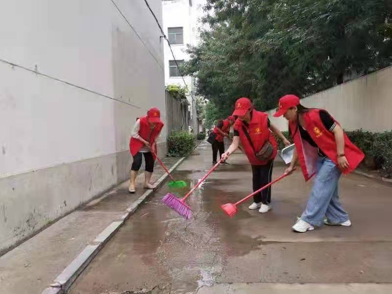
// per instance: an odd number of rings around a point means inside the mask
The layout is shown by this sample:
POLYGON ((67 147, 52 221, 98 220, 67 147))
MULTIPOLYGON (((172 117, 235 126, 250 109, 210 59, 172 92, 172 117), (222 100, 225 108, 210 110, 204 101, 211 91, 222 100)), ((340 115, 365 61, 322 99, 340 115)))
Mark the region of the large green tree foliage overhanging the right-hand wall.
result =
POLYGON ((207 0, 201 42, 185 73, 207 112, 237 98, 260 110, 284 94, 307 96, 392 64, 390 0, 207 0), (210 107, 210 108, 208 108, 210 107))

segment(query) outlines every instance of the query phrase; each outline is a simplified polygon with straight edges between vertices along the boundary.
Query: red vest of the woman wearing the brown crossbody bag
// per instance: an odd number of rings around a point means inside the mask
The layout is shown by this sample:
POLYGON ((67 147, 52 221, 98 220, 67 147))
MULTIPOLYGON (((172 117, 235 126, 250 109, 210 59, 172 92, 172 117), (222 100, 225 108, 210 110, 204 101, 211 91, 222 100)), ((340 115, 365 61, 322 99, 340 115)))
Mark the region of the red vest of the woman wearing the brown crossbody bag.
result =
MULTIPOLYGON (((234 129, 238 131, 240 134, 240 140, 241 143, 244 147, 245 154, 250 162, 251 165, 266 165, 268 164, 269 161, 262 161, 257 159, 255 152, 252 148, 252 146, 249 143, 249 140, 247 139, 244 129, 243 129, 244 123, 241 120, 237 120, 234 123, 234 129)), ((246 128, 246 126, 245 126, 246 128)), ((273 146, 273 153, 272 153, 272 159, 275 158, 277 154, 277 143, 275 138, 272 136, 272 133, 270 129, 268 128, 268 115, 260 112, 253 110, 252 113, 252 119, 250 120, 249 123, 249 128, 247 129, 250 140, 253 143, 253 146, 256 150, 256 152, 260 151, 260 149, 264 146, 264 144, 267 141, 270 141, 270 143, 273 146)))

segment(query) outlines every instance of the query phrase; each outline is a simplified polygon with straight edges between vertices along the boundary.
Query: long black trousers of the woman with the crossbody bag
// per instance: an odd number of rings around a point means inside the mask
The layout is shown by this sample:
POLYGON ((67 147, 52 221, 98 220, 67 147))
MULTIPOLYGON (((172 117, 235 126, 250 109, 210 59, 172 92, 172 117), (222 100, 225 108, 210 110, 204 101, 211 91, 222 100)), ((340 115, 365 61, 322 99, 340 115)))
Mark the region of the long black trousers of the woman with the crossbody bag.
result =
MULTIPOLYGON (((252 165, 253 173, 253 192, 259 190, 261 187, 269 184, 272 180, 273 160, 264 166, 252 165)), ((271 202, 271 186, 257 193, 253 196, 253 201, 256 203, 270 204, 271 202)))

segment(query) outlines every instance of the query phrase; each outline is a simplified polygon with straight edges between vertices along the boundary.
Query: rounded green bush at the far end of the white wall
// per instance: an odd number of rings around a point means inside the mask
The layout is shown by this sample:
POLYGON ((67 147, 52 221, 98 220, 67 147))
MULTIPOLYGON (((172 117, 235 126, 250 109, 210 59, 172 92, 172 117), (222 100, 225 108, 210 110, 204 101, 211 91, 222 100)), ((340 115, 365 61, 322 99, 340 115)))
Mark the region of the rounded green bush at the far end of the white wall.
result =
POLYGON ((168 137, 168 156, 182 157, 192 151, 195 144, 193 135, 185 131, 173 132, 168 137))

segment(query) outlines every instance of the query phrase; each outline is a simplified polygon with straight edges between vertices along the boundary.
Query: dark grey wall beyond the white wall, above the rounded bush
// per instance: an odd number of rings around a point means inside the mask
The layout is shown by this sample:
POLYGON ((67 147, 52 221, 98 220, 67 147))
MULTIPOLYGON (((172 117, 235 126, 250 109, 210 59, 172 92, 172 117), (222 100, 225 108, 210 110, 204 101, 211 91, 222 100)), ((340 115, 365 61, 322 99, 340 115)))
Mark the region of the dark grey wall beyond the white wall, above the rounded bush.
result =
POLYGON ((174 99, 169 92, 166 92, 166 111, 167 111, 167 131, 168 135, 172 131, 188 131, 188 101, 186 99, 174 99))

